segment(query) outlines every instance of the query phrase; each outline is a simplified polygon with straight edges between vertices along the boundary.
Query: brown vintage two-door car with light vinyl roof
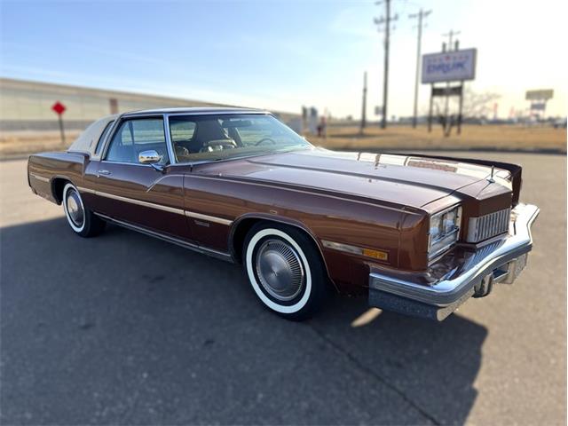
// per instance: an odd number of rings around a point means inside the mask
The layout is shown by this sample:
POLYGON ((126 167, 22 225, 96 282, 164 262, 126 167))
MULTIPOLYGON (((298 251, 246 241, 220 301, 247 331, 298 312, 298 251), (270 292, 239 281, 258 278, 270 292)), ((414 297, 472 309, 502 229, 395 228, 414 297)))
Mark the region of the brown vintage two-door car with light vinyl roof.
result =
POLYGON ((333 152, 242 108, 106 116, 67 152, 31 155, 28 183, 82 237, 111 222, 241 263, 288 319, 329 290, 445 319, 516 279, 539 213, 517 165, 333 152))

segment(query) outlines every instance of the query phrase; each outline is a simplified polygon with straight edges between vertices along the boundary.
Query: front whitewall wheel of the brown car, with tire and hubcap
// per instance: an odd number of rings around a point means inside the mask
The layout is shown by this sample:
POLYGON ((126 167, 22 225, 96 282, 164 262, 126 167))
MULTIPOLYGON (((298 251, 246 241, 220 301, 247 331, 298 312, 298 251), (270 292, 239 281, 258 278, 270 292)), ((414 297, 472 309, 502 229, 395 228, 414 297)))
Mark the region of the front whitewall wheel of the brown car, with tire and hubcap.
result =
POLYGON ((322 304, 327 273, 314 242, 292 226, 253 226, 244 241, 244 268, 260 301, 287 319, 306 319, 322 304))

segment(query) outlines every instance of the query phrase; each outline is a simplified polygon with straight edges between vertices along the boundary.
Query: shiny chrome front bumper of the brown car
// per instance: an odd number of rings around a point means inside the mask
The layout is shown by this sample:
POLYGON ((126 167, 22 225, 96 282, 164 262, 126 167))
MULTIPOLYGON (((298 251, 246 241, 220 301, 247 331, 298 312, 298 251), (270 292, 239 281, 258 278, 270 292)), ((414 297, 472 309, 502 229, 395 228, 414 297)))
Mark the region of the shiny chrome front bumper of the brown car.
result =
POLYGON ((509 235, 476 250, 463 250, 460 259, 441 277, 372 271, 369 304, 385 310, 430 319, 445 319, 471 296, 485 296, 494 282, 512 283, 533 248, 531 226, 539 208, 518 204, 511 212, 509 235))

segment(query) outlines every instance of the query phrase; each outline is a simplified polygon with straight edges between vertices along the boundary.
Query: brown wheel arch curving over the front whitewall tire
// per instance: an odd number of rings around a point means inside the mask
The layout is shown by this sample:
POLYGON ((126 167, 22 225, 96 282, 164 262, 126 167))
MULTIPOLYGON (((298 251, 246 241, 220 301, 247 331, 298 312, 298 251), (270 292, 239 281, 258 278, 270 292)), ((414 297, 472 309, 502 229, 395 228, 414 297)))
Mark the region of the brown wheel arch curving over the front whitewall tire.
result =
POLYGON ((248 231, 254 225, 260 222, 272 222, 274 224, 294 226, 295 228, 308 235, 318 250, 319 258, 326 270, 327 279, 332 283, 335 290, 337 290, 337 286, 335 285, 334 280, 332 280, 331 276, 329 275, 326 258, 325 256, 323 256, 323 250, 319 245, 318 239, 315 237, 312 231, 302 222, 290 219, 288 217, 275 217, 274 215, 267 215, 263 213, 249 213, 235 219, 233 221, 233 225, 231 226, 231 231, 229 232, 229 250, 231 252, 231 256, 233 256, 233 259, 236 262, 242 262, 242 245, 245 241, 248 231))

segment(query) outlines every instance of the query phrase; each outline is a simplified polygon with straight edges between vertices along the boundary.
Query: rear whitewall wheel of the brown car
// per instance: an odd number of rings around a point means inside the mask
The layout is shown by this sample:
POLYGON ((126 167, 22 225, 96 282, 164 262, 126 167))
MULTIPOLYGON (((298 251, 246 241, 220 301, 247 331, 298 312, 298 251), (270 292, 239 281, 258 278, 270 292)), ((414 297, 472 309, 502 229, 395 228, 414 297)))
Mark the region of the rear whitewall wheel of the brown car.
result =
POLYGON ((94 237, 105 229, 105 221, 85 207, 81 193, 71 183, 63 187, 63 210, 71 229, 82 237, 94 237))

